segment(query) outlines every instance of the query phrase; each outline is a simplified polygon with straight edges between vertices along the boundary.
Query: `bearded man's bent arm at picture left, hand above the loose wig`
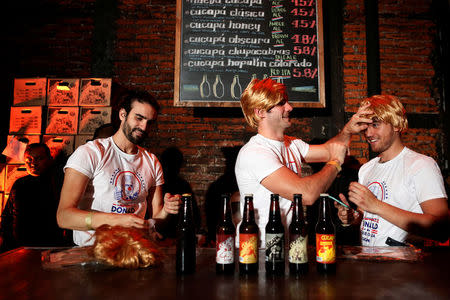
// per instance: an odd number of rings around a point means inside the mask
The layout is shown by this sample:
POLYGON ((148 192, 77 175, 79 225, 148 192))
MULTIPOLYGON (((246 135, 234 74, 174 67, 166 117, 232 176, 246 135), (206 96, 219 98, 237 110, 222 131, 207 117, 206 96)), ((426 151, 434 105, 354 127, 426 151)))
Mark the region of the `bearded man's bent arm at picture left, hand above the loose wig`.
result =
POLYGON ((89 178, 72 168, 67 168, 61 190, 57 221, 61 228, 73 230, 96 229, 103 224, 145 228, 147 223, 135 214, 89 212, 78 208, 89 178))

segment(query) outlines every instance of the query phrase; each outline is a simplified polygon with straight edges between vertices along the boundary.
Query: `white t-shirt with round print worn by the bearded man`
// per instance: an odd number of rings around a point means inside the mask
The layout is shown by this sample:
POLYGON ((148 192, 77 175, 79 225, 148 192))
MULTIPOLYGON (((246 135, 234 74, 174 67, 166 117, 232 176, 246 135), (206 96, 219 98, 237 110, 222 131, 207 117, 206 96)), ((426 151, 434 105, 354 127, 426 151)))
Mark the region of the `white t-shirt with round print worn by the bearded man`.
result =
MULTIPOLYGON (((78 204, 83 210, 134 213, 143 218, 149 189, 164 183, 161 164, 154 154, 141 147, 136 154, 127 154, 117 147, 112 137, 78 147, 66 168, 90 179, 78 204)), ((92 234, 93 231, 74 230, 73 240, 80 246, 92 244, 92 234)))

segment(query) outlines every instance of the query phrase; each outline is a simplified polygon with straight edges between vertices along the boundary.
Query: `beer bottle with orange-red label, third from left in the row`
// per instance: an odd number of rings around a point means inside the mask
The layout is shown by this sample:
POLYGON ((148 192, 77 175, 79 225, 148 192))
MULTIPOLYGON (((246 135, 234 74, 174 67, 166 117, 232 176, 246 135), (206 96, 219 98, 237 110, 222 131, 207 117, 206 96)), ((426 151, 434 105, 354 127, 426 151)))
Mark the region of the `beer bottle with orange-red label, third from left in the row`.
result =
POLYGON ((244 214, 239 226, 239 273, 258 273, 258 234, 253 210, 253 195, 245 195, 244 214))

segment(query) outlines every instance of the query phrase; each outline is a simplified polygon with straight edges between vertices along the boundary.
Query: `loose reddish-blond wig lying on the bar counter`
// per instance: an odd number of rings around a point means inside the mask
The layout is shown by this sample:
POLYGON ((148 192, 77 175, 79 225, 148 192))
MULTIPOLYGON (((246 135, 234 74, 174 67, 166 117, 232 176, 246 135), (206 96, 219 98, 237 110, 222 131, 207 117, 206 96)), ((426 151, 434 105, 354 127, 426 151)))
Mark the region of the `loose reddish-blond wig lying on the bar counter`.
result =
POLYGON ((110 225, 95 230, 92 253, 107 264, 129 269, 156 265, 161 256, 143 230, 110 225))

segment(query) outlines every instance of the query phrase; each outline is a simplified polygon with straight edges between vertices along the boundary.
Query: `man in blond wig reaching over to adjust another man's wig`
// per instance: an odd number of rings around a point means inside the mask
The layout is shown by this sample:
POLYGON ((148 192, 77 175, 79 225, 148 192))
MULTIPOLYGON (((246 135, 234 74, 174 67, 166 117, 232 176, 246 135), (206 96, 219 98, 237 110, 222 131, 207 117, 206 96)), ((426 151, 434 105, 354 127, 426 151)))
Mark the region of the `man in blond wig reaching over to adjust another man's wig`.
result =
POLYGON ((341 169, 353 133, 367 128, 368 113, 360 108, 343 130, 322 145, 309 145, 286 136, 291 126, 286 87, 272 79, 253 79, 241 96, 241 107, 247 123, 258 130, 239 151, 235 173, 241 196, 253 194, 255 219, 265 246, 265 226, 269 218, 270 194, 280 195, 282 222, 289 224, 293 194, 303 195, 303 204, 311 205, 325 192, 341 169), (302 177, 302 162, 327 162, 317 173, 302 177))

